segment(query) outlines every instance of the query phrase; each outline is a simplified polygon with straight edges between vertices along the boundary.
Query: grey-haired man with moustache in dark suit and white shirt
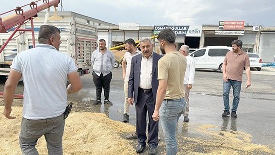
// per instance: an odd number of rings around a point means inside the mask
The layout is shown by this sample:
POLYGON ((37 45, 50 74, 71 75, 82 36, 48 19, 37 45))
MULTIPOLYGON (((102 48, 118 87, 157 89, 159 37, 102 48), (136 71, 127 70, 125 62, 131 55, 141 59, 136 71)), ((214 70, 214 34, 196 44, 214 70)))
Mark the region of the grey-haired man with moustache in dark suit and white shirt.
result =
POLYGON ((148 144, 149 155, 156 154, 158 146, 159 121, 153 121, 158 81, 158 61, 162 55, 153 52, 150 37, 140 39, 142 54, 132 57, 131 71, 128 83, 128 101, 136 105, 137 136, 139 145, 137 153, 142 153, 146 147, 146 114, 148 111, 148 144))

